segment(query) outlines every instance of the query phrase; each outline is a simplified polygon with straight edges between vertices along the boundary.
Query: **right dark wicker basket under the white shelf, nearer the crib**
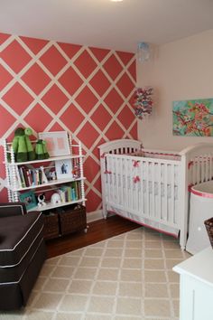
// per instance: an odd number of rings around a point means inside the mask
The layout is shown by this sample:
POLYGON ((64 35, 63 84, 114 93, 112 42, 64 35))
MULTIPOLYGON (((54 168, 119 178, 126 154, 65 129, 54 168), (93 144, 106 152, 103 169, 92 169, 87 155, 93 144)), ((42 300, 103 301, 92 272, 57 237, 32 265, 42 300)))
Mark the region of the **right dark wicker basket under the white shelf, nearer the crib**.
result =
POLYGON ((87 228, 86 208, 83 205, 64 207, 59 218, 61 235, 87 228))

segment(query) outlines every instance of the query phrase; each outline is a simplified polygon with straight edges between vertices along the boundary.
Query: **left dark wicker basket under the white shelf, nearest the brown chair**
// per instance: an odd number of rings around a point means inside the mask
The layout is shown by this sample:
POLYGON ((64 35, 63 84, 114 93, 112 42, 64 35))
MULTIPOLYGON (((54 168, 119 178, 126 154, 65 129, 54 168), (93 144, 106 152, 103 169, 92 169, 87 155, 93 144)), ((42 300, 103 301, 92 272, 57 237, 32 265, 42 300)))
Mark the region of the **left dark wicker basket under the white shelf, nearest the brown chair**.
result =
POLYGON ((43 222, 43 238, 45 240, 59 237, 59 216, 57 213, 43 214, 43 222))

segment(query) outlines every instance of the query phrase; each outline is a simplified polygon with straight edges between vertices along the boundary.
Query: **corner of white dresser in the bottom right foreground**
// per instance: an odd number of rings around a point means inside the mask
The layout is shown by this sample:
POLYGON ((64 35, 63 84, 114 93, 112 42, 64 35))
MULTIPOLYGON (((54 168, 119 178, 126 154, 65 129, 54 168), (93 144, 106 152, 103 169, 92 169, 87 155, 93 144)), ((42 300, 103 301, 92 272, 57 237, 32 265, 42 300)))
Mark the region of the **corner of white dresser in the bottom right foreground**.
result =
POLYGON ((213 320, 213 249, 173 268, 181 275, 180 320, 213 320))

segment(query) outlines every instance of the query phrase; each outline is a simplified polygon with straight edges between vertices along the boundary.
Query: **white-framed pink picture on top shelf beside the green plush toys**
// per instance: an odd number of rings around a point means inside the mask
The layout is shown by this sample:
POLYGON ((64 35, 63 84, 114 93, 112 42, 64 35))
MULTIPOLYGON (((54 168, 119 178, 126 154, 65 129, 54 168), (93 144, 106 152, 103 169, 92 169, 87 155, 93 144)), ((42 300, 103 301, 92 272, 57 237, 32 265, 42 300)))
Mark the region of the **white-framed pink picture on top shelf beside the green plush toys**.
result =
POLYGON ((68 133, 66 131, 40 132, 39 139, 46 141, 50 156, 70 155, 68 133))

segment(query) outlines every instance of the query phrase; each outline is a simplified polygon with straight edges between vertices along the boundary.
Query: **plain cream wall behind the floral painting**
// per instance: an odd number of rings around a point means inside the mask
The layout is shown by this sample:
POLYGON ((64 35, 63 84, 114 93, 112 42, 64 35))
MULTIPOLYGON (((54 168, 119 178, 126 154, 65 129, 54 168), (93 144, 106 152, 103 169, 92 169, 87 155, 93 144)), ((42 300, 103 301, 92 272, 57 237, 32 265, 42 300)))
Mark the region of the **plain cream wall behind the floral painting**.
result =
POLYGON ((213 30, 159 47, 153 61, 137 64, 137 85, 155 91, 153 115, 138 120, 144 147, 181 150, 213 142, 213 136, 172 136, 172 101, 213 98, 213 30))

